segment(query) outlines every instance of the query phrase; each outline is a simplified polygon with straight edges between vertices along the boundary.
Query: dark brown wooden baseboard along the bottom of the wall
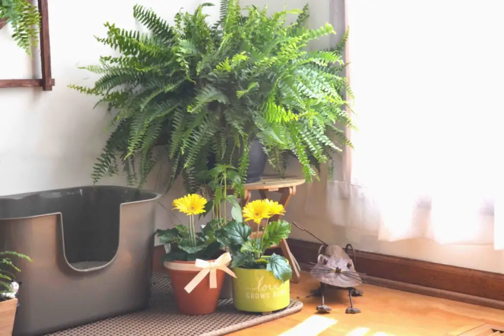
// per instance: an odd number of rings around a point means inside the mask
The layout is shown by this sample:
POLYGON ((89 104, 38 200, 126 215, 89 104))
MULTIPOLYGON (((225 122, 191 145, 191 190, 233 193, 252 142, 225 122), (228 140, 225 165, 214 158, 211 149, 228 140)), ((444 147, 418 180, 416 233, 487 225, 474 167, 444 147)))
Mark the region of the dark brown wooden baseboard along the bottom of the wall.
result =
MULTIPOLYGON (((288 239, 288 244, 304 270, 309 270, 309 262, 317 261, 319 243, 288 239)), ((282 253, 280 249, 271 252, 282 253)), ((155 271, 163 270, 159 261, 163 253, 164 247, 156 246, 155 271)), ((356 270, 372 285, 504 309, 504 274, 358 250, 355 253, 356 270)))

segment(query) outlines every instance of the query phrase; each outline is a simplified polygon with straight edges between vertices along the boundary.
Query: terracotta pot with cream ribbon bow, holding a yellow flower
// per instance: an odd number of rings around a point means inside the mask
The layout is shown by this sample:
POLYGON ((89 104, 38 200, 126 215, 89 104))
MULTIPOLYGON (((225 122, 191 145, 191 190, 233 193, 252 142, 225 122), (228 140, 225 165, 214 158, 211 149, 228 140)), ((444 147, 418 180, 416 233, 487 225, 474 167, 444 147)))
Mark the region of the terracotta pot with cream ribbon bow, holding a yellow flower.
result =
MULTIPOLYGON (((209 260, 215 261, 215 260, 209 260)), ((172 263, 184 263, 194 265, 194 261, 171 261, 172 263)), ((190 283, 199 271, 179 271, 169 268, 170 262, 165 261, 168 269, 171 286, 175 294, 178 311, 186 315, 211 314, 219 304, 219 296, 224 283, 223 271, 217 270, 217 288, 210 288, 210 275, 207 275, 191 293, 187 293, 184 287, 190 283)))

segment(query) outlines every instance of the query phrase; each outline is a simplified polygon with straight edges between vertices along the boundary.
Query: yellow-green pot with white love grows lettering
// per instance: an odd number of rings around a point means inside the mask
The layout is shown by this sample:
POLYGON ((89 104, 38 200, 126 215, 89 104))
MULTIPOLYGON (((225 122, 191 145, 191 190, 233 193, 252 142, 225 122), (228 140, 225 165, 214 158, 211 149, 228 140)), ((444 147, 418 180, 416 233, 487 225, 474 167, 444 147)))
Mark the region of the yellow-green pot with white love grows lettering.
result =
POLYGON ((233 302, 236 309, 248 312, 280 310, 290 303, 289 281, 282 283, 272 272, 233 268, 233 302))

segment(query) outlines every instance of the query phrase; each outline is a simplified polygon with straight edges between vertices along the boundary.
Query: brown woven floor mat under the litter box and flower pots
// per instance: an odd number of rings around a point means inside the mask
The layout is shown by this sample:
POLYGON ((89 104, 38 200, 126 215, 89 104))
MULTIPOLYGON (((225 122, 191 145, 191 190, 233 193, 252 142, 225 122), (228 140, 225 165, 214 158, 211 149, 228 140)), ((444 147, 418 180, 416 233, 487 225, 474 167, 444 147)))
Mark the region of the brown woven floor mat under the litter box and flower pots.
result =
POLYGON ((178 313, 168 275, 153 276, 148 309, 108 318, 45 336, 217 336, 293 314, 303 308, 290 300, 287 308, 270 315, 237 311, 232 299, 220 300, 216 312, 188 316, 178 313))

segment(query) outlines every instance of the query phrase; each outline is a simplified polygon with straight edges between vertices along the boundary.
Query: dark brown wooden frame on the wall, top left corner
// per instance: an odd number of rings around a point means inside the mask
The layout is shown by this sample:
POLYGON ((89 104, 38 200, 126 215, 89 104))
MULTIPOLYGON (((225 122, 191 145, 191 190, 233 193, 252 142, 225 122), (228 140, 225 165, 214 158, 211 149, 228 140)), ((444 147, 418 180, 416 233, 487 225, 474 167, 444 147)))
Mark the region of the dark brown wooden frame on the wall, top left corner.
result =
MULTIPOLYGON (((41 87, 43 91, 51 91, 54 86, 54 79, 51 77, 51 51, 49 43, 49 14, 47 9, 48 0, 38 0, 38 10, 40 11, 40 61, 42 69, 42 79, 0 79, 0 88, 36 88, 41 87)), ((5 21, 0 21, 0 29, 6 25, 5 21)))

